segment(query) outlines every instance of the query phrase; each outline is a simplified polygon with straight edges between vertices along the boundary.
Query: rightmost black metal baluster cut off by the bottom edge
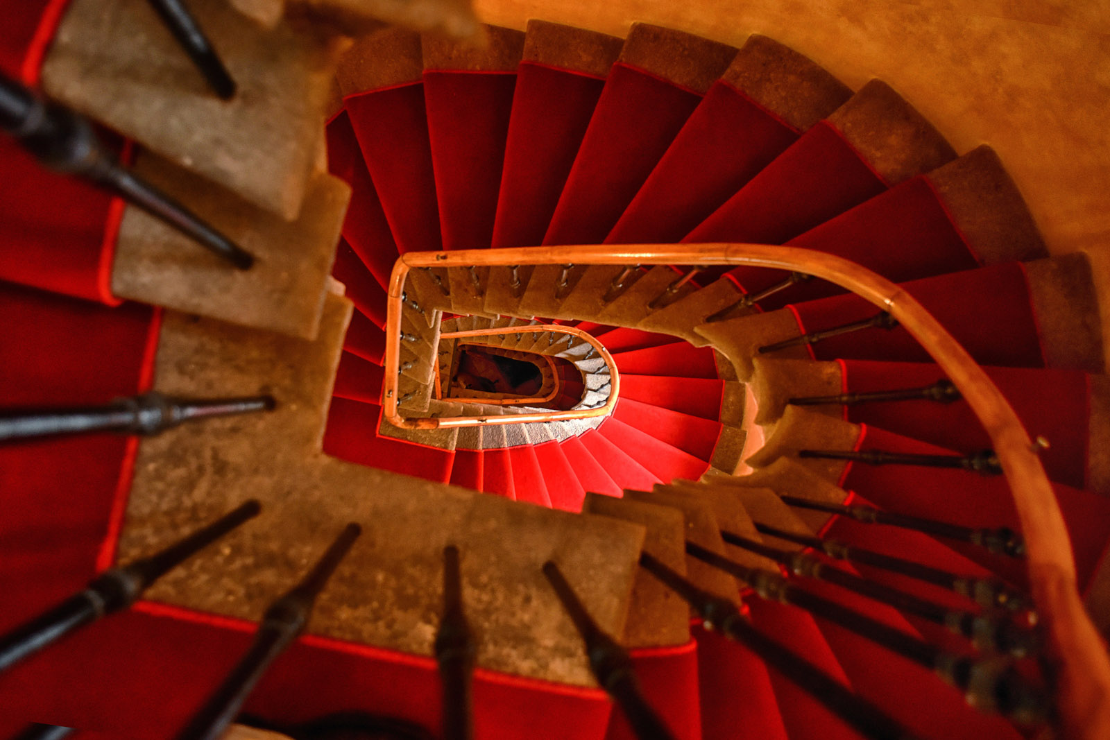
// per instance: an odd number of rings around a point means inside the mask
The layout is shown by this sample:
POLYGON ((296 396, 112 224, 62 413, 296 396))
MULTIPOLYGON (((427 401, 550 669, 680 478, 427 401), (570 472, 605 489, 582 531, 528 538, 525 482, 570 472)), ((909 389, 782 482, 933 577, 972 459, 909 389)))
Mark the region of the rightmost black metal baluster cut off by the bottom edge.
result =
MULTIPOLYGON (((916 737, 897 720, 817 666, 756 630, 731 601, 702 590, 646 553, 640 555, 639 565, 689 604, 702 617, 706 628, 717 630, 747 647, 864 736, 882 740, 909 740, 916 737)), ((736 688, 738 691, 743 690, 743 687, 736 688)))

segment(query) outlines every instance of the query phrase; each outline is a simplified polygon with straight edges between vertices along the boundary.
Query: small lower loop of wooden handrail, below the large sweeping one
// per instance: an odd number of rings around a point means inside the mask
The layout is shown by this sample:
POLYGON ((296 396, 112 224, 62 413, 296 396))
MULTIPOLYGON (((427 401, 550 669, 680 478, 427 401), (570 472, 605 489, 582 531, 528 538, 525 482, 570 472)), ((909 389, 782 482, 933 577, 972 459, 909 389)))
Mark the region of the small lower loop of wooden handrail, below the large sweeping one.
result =
MULTIPOLYGON (((396 273, 396 266, 394 266, 394 274, 396 273)), ((392 283, 391 283, 392 287, 392 283)), ((400 296, 400 294, 398 294, 400 296)), ((393 318, 393 298, 390 297, 390 314, 386 318, 386 332, 389 332, 390 320, 393 318)), ((610 378, 610 389, 609 397, 605 399, 605 403, 596 408, 568 408, 566 410, 552 409, 551 412, 536 412, 534 414, 506 414, 506 415, 493 415, 493 416, 422 416, 422 417, 404 417, 397 412, 397 368, 400 365, 400 352, 401 352, 401 301, 397 300, 397 334, 395 346, 389 341, 389 334, 386 334, 385 342, 385 368, 386 376, 385 383, 383 384, 383 408, 385 414, 385 419, 393 426, 401 427, 403 429, 445 429, 453 427, 463 426, 482 426, 482 425, 498 425, 498 424, 526 424, 529 422, 565 422, 567 419, 581 419, 581 418, 592 418, 594 416, 606 416, 613 413, 613 408, 617 405, 617 396, 620 394, 620 373, 617 371, 617 364, 613 361, 613 355, 609 351, 602 345, 601 342, 595 339, 593 336, 583 332, 579 328, 573 326, 562 326, 559 324, 533 324, 531 326, 513 326, 508 330, 503 328, 481 328, 481 330, 470 330, 467 332, 452 332, 450 334, 444 334, 442 336, 452 337, 460 334, 465 334, 467 336, 492 336, 494 334, 541 334, 544 332, 552 332, 558 334, 567 334, 569 336, 576 336, 579 339, 586 342, 589 346, 594 348, 597 356, 605 361, 605 366, 609 369, 610 378), (393 349, 391 351, 391 347, 393 349), (393 352, 393 356, 390 353, 393 352), (393 361, 393 371, 390 371, 390 362, 393 361), (390 375, 390 373, 393 373, 390 375), (390 381, 393 381, 390 383, 390 381), (392 403, 391 403, 392 402, 392 403)), ((554 395, 552 396, 554 398, 554 395)), ((460 401, 457 398, 450 398, 447 401, 460 401)))

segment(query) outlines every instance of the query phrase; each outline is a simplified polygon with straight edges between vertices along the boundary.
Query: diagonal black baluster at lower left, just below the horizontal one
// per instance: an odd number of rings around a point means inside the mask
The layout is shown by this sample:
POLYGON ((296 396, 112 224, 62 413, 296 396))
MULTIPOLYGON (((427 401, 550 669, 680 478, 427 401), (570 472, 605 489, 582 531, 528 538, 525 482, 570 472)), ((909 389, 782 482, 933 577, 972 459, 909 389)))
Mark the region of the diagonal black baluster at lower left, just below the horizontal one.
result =
POLYGON ((261 510, 258 501, 246 501, 160 553, 105 570, 89 581, 83 591, 0 637, 0 672, 70 632, 130 607, 168 570, 261 510))

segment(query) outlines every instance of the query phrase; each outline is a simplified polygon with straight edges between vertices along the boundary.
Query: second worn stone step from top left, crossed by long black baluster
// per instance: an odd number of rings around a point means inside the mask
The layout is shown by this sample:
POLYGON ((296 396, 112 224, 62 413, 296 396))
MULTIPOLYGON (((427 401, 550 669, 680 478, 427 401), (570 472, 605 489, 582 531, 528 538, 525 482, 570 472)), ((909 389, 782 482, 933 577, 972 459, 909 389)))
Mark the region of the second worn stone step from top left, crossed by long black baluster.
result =
POLYGON ((254 255, 246 271, 128 206, 112 264, 112 292, 122 297, 223 321, 315 336, 351 189, 313 176, 305 206, 292 222, 251 205, 152 154, 135 171, 254 255))

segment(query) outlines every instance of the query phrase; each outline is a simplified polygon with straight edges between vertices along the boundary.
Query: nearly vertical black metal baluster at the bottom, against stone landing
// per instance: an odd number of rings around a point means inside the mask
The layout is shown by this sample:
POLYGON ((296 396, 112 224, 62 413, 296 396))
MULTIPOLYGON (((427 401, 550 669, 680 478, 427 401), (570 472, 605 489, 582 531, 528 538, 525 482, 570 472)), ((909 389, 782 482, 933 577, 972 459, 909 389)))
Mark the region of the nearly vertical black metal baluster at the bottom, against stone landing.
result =
POLYGON ((474 633, 463 611, 458 548, 450 545, 443 548, 443 618, 435 635, 435 659, 443 681, 444 740, 474 737, 471 678, 475 652, 474 633))

